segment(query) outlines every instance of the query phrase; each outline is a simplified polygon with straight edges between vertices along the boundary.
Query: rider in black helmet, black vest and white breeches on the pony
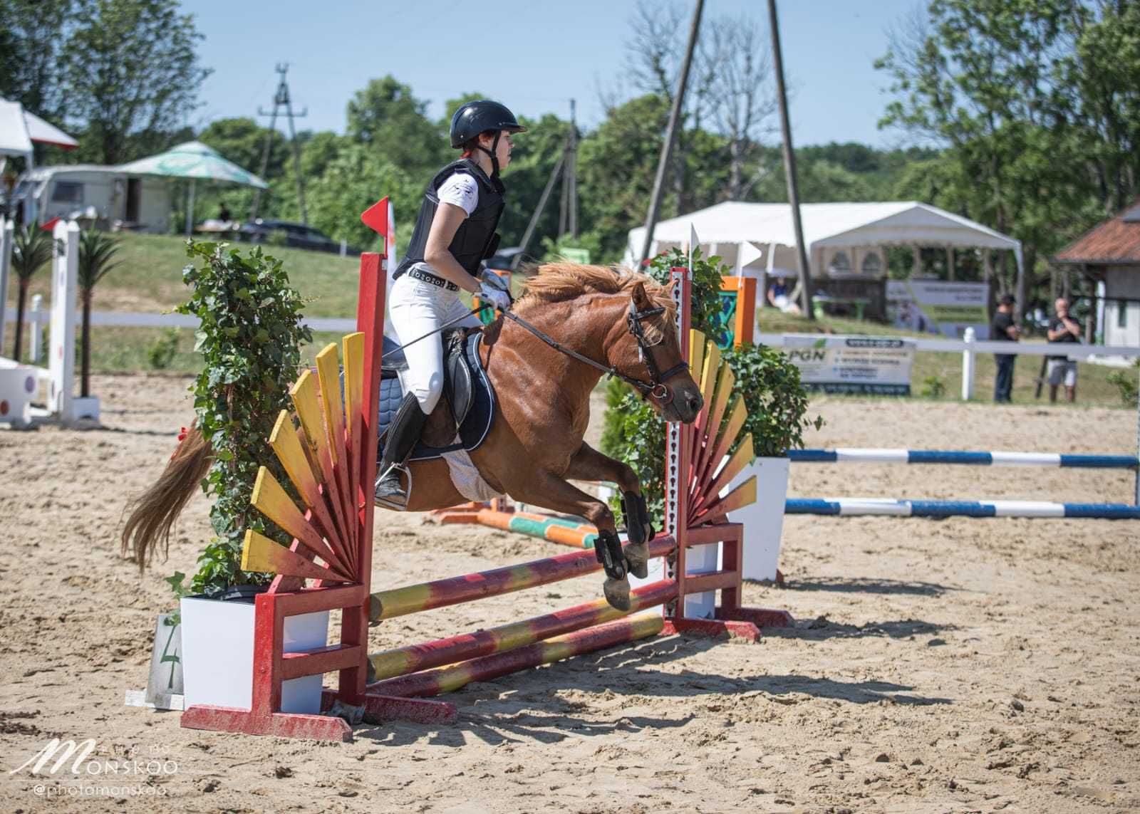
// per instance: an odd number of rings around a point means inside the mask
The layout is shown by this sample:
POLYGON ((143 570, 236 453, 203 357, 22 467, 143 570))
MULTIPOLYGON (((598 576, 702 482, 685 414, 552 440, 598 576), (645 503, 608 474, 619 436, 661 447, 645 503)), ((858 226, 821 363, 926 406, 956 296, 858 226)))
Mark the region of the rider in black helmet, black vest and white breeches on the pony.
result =
MULTIPOLYGON (((514 114, 497 101, 480 99, 461 106, 451 116, 451 147, 462 149, 458 161, 435 173, 424 193, 415 230, 404 262, 392 275, 389 314, 398 341, 404 344, 438 331, 445 323, 467 315, 453 325, 478 327, 459 288, 478 294, 499 309, 511 306, 497 275, 480 280, 480 263, 498 246, 503 214, 499 171, 511 163, 512 135, 524 131, 514 114)), ((443 344, 433 333, 404 351, 404 400, 388 430, 384 455, 376 469, 376 499, 407 505, 398 469, 407 461, 427 416, 443 389, 443 344)))

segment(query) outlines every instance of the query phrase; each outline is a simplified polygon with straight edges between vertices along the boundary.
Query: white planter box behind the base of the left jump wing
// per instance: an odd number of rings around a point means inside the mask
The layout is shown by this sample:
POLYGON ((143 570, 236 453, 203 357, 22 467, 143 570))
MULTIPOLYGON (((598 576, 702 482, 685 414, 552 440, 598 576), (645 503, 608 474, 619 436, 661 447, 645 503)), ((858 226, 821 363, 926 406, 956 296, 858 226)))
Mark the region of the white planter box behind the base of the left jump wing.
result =
MULTIPOLYGON (((186 706, 250 709, 253 701, 253 603, 220 602, 201 596, 181 601, 182 682, 186 706)), ((328 641, 328 611, 285 618, 284 652, 323 648, 328 641)), ((323 676, 282 684, 282 711, 320 711, 323 676)))

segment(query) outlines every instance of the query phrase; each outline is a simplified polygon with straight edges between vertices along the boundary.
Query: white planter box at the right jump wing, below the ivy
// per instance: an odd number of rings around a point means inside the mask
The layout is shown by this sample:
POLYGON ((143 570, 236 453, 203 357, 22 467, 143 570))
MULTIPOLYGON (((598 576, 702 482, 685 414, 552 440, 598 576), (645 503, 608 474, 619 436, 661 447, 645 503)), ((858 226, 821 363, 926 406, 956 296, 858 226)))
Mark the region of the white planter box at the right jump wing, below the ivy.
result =
POLYGON ((722 495, 756 475, 756 503, 728 512, 728 521, 744 524, 744 552, 741 571, 744 579, 776 578, 783 510, 788 499, 788 458, 756 458, 738 474, 722 495))

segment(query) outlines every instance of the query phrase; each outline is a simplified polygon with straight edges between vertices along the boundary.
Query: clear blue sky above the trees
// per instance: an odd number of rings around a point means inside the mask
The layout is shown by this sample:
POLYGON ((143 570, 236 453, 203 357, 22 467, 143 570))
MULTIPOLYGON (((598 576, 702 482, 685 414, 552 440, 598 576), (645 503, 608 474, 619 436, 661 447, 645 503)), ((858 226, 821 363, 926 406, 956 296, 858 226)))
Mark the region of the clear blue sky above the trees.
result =
MULTIPOLYGON (((662 0, 663 1, 663 0, 662 0)), ((686 9, 691 0, 681 0, 686 9)), ((887 29, 918 0, 782 0, 784 71, 793 93, 797 145, 862 141, 905 144, 876 122, 887 78, 872 67, 887 49, 887 29)), ((294 107, 308 108, 300 129, 344 128, 344 108, 372 78, 391 73, 442 114, 447 98, 479 91, 523 115, 567 117, 577 99, 586 128, 603 116, 598 88, 621 81, 635 0, 185 0, 205 35, 203 65, 213 68, 192 124, 269 108, 277 74, 288 62, 294 107)), ((767 32, 764 0, 706 0, 705 15, 757 18, 767 32)), ((268 123, 268 120, 264 120, 268 123)), ((774 139, 776 136, 771 136, 774 139)))

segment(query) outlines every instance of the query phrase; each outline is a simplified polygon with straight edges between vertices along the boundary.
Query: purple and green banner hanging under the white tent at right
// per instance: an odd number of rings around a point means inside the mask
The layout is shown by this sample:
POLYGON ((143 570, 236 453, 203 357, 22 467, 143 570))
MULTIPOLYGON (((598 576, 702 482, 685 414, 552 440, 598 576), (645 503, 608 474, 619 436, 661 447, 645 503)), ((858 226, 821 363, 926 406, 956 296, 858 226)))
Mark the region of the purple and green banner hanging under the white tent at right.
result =
POLYGON ((887 280, 887 319, 896 328, 962 339, 972 327, 979 341, 990 339, 987 283, 930 279, 887 280))

